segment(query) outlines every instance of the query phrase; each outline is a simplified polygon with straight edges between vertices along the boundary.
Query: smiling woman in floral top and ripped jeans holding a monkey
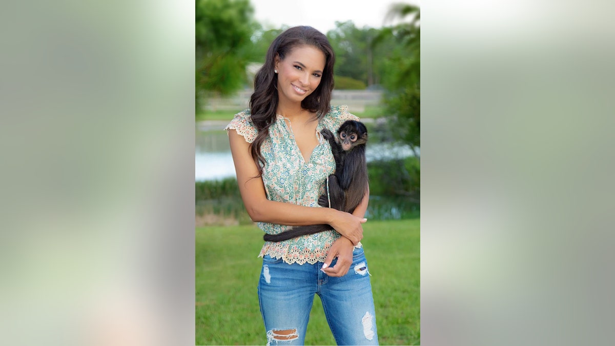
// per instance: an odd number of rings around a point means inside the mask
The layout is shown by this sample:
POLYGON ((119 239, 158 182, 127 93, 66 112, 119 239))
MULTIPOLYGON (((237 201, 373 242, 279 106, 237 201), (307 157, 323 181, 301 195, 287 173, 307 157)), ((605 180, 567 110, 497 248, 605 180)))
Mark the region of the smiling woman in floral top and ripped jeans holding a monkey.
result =
POLYGON ((346 107, 330 106, 334 63, 319 31, 284 31, 256 73, 250 109, 226 127, 239 190, 258 227, 277 234, 288 226, 327 223, 336 230, 264 244, 258 296, 268 345, 303 345, 314 294, 338 345, 378 344, 360 244, 369 191, 353 214, 317 204, 335 169, 320 131, 335 133, 344 121, 358 119, 346 107))

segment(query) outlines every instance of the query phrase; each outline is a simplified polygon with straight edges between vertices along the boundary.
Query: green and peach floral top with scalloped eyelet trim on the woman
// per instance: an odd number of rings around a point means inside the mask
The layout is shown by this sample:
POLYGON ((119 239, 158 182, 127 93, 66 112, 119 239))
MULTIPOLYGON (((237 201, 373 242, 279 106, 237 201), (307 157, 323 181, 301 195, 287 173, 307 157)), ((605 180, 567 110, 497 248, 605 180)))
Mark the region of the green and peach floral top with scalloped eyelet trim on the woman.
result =
MULTIPOLYGON (((320 207, 318 198, 325 191, 325 179, 335 171, 331 147, 328 141, 322 138, 320 131, 327 128, 335 134, 346 120, 359 118, 348 113, 347 106, 331 107, 316 126, 314 135, 319 139, 319 144, 306 162, 295 143, 292 125, 289 127, 284 116, 277 115, 276 122, 269 127, 269 137, 261 146, 261 153, 266 159, 262 178, 269 200, 320 207)), ((252 143, 256 138, 257 131, 250 118, 249 109, 237 113, 224 129, 227 132, 229 129, 236 130, 248 143, 252 143)), ((268 222, 258 222, 258 227, 269 234, 281 233, 288 228, 286 225, 268 222)), ((258 257, 268 254, 274 259, 281 258, 288 264, 315 264, 327 258, 329 247, 339 237, 335 230, 328 230, 279 243, 266 241, 258 257)), ((357 247, 360 247, 360 243, 357 247)))

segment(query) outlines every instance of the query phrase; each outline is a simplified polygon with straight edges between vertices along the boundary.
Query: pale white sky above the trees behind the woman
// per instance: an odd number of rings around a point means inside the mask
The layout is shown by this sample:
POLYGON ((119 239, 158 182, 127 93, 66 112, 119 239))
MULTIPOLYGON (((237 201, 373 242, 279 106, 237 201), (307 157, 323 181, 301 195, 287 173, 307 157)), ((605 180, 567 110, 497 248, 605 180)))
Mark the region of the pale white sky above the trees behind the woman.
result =
POLYGON ((381 28, 391 4, 402 2, 420 4, 409 0, 251 0, 255 18, 264 28, 288 26, 314 26, 322 33, 335 28, 335 22, 352 20, 357 28, 367 25, 381 28))

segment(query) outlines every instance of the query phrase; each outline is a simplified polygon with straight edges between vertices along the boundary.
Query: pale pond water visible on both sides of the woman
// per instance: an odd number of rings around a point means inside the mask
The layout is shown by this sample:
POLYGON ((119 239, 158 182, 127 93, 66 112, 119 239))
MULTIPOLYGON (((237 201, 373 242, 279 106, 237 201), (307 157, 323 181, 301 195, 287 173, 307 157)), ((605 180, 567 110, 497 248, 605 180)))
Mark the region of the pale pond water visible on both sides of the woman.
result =
MULTIPOLYGON (((196 131, 196 150, 194 156, 194 179, 197 181, 220 180, 235 177, 231 149, 226 131, 196 131)), ((367 161, 378 159, 407 158, 414 153, 408 145, 373 143, 367 146, 367 161)))

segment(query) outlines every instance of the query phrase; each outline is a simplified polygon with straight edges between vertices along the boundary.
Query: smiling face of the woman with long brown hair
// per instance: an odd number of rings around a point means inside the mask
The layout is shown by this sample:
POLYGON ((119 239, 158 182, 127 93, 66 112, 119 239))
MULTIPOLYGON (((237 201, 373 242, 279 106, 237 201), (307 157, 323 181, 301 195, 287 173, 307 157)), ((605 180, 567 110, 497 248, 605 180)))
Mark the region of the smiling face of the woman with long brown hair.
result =
POLYGON ((280 102, 301 102, 319 86, 325 54, 312 46, 298 46, 284 60, 276 57, 276 70, 280 102))

